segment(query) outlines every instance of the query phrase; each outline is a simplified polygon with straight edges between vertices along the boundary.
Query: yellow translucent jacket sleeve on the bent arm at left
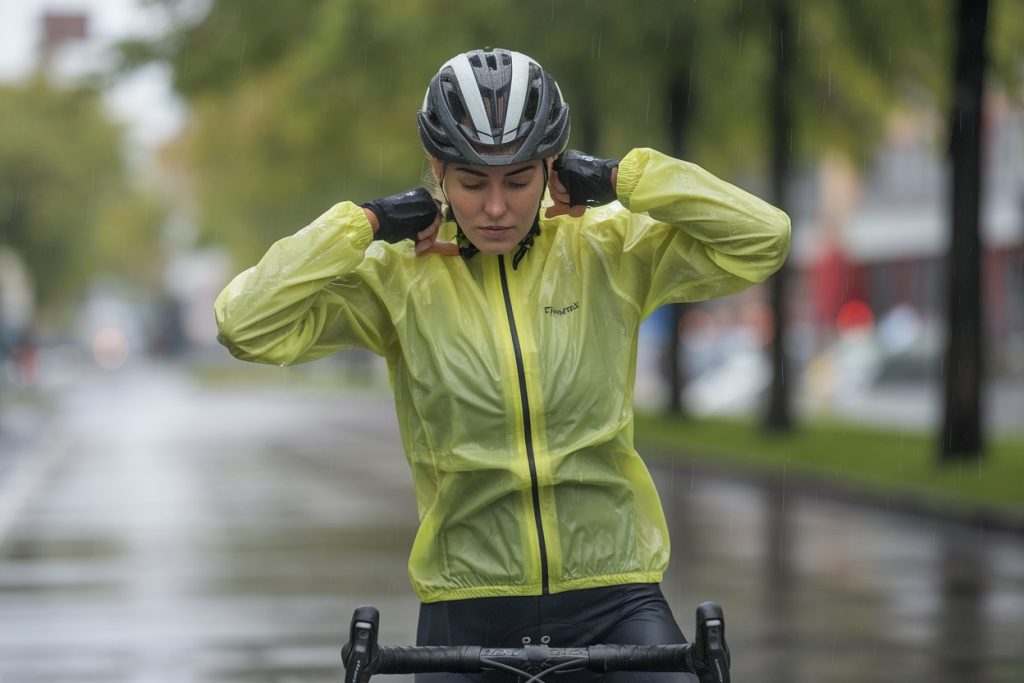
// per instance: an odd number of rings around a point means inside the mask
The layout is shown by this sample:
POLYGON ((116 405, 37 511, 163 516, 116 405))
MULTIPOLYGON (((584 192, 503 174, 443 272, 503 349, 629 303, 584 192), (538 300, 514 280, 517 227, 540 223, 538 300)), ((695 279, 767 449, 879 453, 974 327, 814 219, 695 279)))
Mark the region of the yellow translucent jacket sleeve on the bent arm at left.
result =
POLYGON ((393 328, 359 268, 372 242, 349 202, 280 240, 217 297, 218 341, 243 360, 281 366, 353 346, 383 355, 393 328))

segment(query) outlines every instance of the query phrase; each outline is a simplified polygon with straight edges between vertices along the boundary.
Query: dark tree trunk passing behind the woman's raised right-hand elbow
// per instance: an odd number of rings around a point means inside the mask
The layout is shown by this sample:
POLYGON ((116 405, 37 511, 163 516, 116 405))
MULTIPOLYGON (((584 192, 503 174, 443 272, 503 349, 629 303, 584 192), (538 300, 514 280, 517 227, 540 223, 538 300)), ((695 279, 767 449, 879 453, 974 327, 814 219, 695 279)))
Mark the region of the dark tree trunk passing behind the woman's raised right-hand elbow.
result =
MULTIPOLYGON (((775 59, 770 83, 771 108, 771 200, 788 213, 786 186, 792 166, 793 141, 793 49, 792 15, 787 0, 772 3, 771 26, 774 30, 775 59)), ((791 391, 785 353, 785 299, 788 268, 783 263, 770 280, 772 338, 770 345, 771 387, 763 426, 769 432, 787 432, 793 428, 791 391)))

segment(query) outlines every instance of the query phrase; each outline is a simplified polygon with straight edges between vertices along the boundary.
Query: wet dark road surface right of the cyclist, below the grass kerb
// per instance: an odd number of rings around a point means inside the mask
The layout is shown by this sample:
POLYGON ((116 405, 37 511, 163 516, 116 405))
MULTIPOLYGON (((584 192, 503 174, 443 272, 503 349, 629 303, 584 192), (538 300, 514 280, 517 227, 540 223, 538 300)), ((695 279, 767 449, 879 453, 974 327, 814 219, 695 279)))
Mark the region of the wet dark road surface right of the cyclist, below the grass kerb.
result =
POLYGON ((726 605, 736 680, 1024 680, 1020 537, 685 469, 667 589, 726 605))

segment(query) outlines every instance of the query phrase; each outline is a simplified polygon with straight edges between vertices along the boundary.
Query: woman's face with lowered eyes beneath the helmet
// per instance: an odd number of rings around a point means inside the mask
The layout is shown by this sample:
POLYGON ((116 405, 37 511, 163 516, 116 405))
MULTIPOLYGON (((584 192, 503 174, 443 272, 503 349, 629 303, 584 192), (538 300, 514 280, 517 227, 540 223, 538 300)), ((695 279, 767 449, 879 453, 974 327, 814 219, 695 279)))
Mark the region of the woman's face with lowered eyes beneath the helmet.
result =
POLYGON ((510 166, 443 164, 431 160, 466 238, 485 254, 507 254, 534 225, 544 195, 540 161, 510 166))

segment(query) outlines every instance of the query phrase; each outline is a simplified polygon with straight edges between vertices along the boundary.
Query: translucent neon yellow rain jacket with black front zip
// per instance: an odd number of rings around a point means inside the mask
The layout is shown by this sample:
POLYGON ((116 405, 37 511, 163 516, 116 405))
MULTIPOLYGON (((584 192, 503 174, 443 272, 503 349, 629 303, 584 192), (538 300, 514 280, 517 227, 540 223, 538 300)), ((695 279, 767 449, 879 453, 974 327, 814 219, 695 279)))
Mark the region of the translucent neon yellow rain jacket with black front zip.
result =
POLYGON ((343 202, 217 299, 239 358, 289 365, 352 346, 386 358, 424 602, 663 578, 668 529, 633 446, 637 331, 665 303, 768 278, 790 220, 652 150, 623 159, 616 190, 622 206, 542 218, 518 269, 374 241, 343 202))

